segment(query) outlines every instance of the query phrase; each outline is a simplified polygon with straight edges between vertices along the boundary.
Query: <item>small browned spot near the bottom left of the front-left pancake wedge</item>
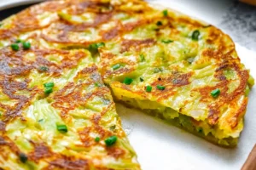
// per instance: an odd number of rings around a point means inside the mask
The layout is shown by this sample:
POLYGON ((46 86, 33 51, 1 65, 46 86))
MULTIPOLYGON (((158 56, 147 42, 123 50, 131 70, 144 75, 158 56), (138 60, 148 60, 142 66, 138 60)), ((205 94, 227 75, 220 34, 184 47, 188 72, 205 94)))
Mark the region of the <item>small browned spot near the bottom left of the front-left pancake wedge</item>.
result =
POLYGON ((34 146, 34 150, 28 154, 28 157, 30 160, 38 162, 41 159, 44 159, 46 157, 51 157, 54 155, 54 153, 51 152, 49 147, 44 143, 35 143, 32 142, 34 146))

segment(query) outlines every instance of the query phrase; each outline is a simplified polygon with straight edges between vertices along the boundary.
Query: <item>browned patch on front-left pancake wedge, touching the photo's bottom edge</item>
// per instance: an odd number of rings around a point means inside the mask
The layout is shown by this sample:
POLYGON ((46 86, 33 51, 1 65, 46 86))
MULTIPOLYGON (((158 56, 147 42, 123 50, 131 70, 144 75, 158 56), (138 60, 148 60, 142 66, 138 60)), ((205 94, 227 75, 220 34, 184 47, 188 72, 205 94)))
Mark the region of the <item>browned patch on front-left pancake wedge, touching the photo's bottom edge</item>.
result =
POLYGON ((49 161, 49 166, 45 170, 65 169, 65 170, 89 170, 89 161, 63 156, 54 161, 49 161))

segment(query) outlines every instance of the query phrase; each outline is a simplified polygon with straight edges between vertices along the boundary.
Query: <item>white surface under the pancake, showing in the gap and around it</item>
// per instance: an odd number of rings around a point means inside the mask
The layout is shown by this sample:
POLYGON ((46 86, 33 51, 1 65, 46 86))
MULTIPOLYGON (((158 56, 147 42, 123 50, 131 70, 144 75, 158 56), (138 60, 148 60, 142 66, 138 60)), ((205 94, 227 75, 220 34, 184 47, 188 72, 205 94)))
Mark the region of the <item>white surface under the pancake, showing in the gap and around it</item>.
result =
MULTIPOLYGON (((0 0, 0 9, 36 1, 38 0, 9 0, 9 2, 0 0)), ((218 25, 219 18, 224 14, 224 8, 227 8, 230 3, 230 1, 221 0, 152 2, 180 10, 213 25, 218 25)), ((236 50, 241 62, 251 70, 253 77, 256 77, 256 53, 237 43, 236 50)), ((245 128, 236 149, 218 147, 177 127, 147 116, 141 111, 127 109, 122 105, 117 105, 117 109, 144 170, 236 170, 240 169, 246 161, 256 141, 256 107, 253 104, 256 104, 255 87, 249 96, 245 128)))

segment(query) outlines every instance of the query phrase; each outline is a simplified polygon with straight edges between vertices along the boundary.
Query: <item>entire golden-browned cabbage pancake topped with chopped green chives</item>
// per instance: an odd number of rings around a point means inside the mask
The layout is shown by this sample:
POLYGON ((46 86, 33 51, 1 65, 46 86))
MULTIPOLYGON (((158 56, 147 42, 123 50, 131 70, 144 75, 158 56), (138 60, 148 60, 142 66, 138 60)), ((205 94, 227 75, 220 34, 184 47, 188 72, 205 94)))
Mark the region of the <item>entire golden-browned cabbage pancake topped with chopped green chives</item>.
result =
POLYGON ((224 146, 237 144, 253 86, 229 36, 140 0, 41 3, 3 20, 0 48, 7 169, 138 169, 103 82, 224 146))

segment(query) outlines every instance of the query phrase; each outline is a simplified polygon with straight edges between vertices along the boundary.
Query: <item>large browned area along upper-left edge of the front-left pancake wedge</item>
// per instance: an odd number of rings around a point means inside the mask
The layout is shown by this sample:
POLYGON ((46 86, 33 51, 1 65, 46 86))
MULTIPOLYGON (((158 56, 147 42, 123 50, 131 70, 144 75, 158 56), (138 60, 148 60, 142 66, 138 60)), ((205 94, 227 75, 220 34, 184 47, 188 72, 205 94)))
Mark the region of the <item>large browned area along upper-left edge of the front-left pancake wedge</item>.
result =
MULTIPOLYGON (((3 122, 9 122, 17 116, 21 116, 21 110, 27 105, 30 105, 30 100, 38 93, 37 87, 28 88, 27 85, 31 81, 26 78, 30 71, 37 69, 40 66, 47 66, 49 71, 47 73, 52 73, 52 77, 60 76, 63 69, 72 68, 79 64, 79 60, 87 57, 84 52, 78 51, 71 54, 69 51, 65 50, 51 50, 51 49, 37 49, 31 48, 29 51, 21 50, 19 52, 14 52, 9 48, 1 49, 2 59, 0 59, 0 87, 2 88, 3 94, 8 95, 9 99, 16 102, 14 106, 2 105, 5 113, 3 115, 3 122), (32 52, 36 55, 35 61, 27 61, 24 59, 24 55, 32 52), (63 58, 61 64, 57 65, 50 62, 45 57, 49 54, 60 54, 63 58), (25 77, 23 82, 16 82, 16 77, 25 77), (16 92, 26 91, 29 96, 17 95, 16 92)), ((22 116, 21 116, 22 118, 22 116)))

